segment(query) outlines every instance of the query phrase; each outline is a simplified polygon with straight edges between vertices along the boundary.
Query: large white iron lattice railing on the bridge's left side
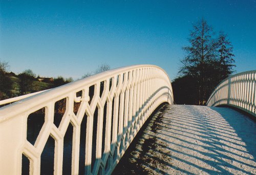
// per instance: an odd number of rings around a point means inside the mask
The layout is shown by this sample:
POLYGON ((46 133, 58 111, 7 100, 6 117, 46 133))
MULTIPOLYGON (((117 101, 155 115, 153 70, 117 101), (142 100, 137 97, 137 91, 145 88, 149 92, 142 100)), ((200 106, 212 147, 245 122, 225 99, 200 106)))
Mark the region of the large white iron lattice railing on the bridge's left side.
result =
POLYGON ((81 167, 79 145, 82 144, 85 145, 84 173, 110 174, 140 127, 163 102, 173 103, 167 74, 154 65, 134 65, 93 75, 1 107, 0 174, 21 174, 24 156, 29 160, 29 173, 40 174, 40 168, 44 168, 41 155, 48 138, 55 142, 54 174, 62 174, 63 140, 69 125, 73 127, 72 163, 63 166, 71 166, 71 173, 78 174, 81 167), (66 105, 57 126, 54 107, 59 100, 66 105), (31 143, 27 138, 28 119, 38 110, 44 112, 44 124, 35 143, 31 143), (80 133, 85 118, 86 134, 80 133), (80 143, 82 134, 86 135, 85 143, 80 143))

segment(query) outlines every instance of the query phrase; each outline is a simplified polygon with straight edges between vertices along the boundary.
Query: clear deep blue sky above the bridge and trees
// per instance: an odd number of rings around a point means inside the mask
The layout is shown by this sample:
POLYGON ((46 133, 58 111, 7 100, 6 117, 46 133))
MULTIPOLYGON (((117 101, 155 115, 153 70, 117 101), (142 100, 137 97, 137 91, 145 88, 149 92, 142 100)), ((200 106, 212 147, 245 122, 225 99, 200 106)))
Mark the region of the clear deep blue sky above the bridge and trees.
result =
POLYGON ((256 69, 256 1, 2 1, 0 60, 10 70, 81 78, 99 64, 155 64, 177 76, 193 23, 228 34, 237 72, 256 69))

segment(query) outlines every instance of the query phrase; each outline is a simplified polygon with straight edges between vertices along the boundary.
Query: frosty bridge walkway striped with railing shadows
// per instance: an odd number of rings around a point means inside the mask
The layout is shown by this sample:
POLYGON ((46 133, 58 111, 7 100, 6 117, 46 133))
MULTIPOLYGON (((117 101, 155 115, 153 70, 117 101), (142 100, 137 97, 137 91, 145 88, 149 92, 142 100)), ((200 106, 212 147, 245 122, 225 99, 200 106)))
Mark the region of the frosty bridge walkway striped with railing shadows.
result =
POLYGON ((256 174, 256 124, 224 107, 163 105, 114 174, 256 174))

